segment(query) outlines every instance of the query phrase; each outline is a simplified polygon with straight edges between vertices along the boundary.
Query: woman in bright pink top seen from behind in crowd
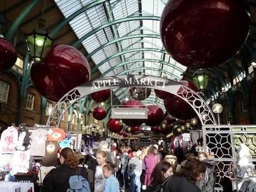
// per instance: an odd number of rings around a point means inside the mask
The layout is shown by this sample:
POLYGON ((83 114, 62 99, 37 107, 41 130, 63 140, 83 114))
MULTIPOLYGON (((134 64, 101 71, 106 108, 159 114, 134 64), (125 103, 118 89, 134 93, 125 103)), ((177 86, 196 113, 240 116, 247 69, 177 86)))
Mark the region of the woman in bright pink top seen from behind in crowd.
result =
POLYGON ((160 162, 159 157, 156 155, 156 147, 150 146, 147 151, 147 155, 144 158, 144 164, 146 168, 145 179, 143 181, 143 185, 149 186, 151 183, 151 173, 155 168, 155 165, 160 162))

